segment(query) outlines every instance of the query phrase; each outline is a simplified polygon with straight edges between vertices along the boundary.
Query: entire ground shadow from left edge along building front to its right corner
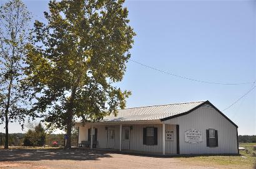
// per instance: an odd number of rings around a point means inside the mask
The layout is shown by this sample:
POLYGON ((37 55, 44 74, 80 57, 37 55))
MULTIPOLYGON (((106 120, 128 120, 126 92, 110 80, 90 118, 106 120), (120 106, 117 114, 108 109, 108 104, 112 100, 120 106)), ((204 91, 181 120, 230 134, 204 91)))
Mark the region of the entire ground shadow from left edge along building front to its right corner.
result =
POLYGON ((42 148, 42 149, 0 149, 0 161, 37 161, 37 160, 99 160, 99 158, 112 157, 111 153, 134 155, 140 157, 155 158, 179 158, 179 157, 208 157, 208 156, 230 156, 238 154, 201 154, 201 155, 159 155, 138 152, 119 152, 117 150, 91 150, 88 148, 42 148))

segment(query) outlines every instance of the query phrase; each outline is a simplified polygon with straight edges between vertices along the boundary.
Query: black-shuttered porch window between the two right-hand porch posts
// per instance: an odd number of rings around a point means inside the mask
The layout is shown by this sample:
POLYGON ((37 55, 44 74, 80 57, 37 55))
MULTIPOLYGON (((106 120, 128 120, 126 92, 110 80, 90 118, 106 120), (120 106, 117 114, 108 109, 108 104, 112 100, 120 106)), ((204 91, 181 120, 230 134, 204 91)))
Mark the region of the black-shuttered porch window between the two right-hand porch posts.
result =
POLYGON ((157 128, 145 127, 143 129, 143 144, 157 145, 157 128))

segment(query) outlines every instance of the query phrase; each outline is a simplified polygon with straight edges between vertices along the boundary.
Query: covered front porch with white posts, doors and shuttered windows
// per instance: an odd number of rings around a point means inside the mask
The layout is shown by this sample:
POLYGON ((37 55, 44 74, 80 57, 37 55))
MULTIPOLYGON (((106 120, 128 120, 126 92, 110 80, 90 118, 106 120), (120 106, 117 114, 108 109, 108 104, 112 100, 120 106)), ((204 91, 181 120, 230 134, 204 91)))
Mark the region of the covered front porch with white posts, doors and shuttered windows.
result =
POLYGON ((83 141, 89 143, 88 148, 155 155, 179 154, 179 126, 153 121, 91 123, 79 126, 79 144, 83 141))

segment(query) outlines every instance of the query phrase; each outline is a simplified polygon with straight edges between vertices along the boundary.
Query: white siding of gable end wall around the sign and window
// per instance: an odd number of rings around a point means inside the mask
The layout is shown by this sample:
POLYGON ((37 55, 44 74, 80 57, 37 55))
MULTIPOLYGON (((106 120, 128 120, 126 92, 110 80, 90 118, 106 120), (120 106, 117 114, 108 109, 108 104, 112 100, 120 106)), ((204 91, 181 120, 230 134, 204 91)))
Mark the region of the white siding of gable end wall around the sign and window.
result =
POLYGON ((165 121, 169 124, 179 124, 180 154, 189 153, 238 153, 237 127, 225 119, 210 105, 200 107, 185 116, 165 121), (202 132, 203 141, 198 144, 185 142, 185 130, 197 129, 202 132), (218 147, 207 147, 206 130, 218 130, 218 147))

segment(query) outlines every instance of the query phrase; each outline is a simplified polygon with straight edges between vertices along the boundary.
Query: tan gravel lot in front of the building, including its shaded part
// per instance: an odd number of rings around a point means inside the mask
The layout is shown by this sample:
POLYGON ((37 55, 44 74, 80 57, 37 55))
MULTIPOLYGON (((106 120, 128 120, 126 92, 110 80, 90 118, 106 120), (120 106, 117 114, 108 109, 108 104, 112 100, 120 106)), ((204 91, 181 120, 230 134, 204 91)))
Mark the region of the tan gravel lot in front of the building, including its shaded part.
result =
POLYGON ((89 149, 0 149, 0 168, 227 168, 179 157, 120 154, 89 149))

